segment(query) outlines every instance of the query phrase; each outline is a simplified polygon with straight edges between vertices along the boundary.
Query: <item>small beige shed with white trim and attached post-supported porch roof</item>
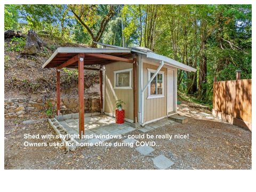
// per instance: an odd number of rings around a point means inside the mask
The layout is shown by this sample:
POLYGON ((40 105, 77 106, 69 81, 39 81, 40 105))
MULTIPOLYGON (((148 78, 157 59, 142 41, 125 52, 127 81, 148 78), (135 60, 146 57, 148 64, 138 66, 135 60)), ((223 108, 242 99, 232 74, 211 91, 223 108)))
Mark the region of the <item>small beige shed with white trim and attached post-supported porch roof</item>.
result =
MULTIPOLYGON (((98 42, 95 42, 98 43, 98 42)), ((177 69, 196 69, 145 47, 59 47, 43 68, 56 68, 57 115, 60 115, 60 70, 78 69, 79 134, 84 133, 84 70, 98 70, 101 113, 115 116, 115 101, 125 102, 125 121, 146 125, 177 113, 177 69), (99 68, 88 66, 99 65, 99 68)))

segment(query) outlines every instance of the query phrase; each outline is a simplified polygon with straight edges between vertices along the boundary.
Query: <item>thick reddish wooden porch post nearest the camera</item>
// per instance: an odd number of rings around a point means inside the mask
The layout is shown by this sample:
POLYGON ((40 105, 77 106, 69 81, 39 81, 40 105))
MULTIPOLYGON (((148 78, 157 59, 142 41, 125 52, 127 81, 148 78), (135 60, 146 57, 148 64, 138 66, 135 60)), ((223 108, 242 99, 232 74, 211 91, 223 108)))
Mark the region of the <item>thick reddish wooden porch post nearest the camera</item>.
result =
POLYGON ((84 134, 84 56, 78 55, 79 135, 84 134))

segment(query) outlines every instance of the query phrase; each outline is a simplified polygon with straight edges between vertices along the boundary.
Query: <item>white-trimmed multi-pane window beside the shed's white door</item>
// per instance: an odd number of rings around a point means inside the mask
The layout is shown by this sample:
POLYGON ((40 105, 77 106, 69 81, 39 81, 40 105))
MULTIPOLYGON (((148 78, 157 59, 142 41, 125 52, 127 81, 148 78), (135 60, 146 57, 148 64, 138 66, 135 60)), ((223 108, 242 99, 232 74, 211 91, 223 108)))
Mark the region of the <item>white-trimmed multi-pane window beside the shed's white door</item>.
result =
MULTIPOLYGON (((156 70, 148 69, 148 81, 156 70)), ((164 71, 159 71, 155 78, 148 85, 148 99, 164 97, 164 71)))

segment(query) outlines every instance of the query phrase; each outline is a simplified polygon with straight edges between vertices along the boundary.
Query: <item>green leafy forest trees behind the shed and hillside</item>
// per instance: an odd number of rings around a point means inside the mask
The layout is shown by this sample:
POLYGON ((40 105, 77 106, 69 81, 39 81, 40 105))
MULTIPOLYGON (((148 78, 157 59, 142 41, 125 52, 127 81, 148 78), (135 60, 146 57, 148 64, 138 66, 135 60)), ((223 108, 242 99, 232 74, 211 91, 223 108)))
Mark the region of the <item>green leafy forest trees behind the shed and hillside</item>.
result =
MULTIPOLYGON (((145 46, 194 67, 196 73, 178 70, 178 88, 198 102, 211 103, 214 77, 235 79, 237 69, 242 78, 252 76, 251 5, 5 5, 4 11, 5 29, 19 28, 18 19, 23 19, 26 29, 48 38, 145 46)), ((22 51, 23 45, 24 39, 14 38, 4 46, 22 51)), ((62 82, 76 81, 74 70, 63 71, 62 82)))

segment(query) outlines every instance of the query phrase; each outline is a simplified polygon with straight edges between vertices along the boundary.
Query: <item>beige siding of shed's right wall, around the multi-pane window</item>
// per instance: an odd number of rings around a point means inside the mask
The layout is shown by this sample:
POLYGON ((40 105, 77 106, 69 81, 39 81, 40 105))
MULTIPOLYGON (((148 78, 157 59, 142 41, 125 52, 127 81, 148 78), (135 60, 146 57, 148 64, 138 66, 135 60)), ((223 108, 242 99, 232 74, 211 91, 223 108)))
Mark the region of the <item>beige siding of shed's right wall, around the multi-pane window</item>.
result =
MULTIPOLYGON (((158 66, 150 65, 149 63, 143 62, 143 86, 148 82, 148 69, 156 70, 158 66)), ((162 68, 164 71, 164 97, 163 98, 148 98, 148 88, 144 92, 144 122, 151 121, 167 115, 167 68, 162 68)))

